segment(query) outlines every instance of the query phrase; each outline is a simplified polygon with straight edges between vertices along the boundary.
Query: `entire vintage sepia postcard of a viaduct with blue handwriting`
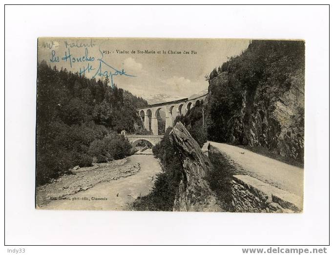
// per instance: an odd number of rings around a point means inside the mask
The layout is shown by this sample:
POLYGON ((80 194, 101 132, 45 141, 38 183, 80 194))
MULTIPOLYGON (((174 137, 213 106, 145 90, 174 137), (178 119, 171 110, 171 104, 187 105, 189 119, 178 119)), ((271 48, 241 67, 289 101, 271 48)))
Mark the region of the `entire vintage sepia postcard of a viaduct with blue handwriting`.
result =
POLYGON ((303 40, 39 38, 36 208, 302 212, 303 40))

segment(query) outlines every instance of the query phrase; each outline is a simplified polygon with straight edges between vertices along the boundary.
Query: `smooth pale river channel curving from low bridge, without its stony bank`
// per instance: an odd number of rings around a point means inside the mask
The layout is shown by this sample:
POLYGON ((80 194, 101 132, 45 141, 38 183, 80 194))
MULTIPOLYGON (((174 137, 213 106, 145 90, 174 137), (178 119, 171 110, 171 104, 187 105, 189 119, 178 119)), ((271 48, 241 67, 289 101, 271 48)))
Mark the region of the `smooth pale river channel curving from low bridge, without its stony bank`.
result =
POLYGON ((152 155, 132 155, 125 165, 136 163, 140 163, 141 169, 134 175, 51 201, 43 209, 126 210, 138 196, 149 193, 154 176, 161 171, 159 161, 152 155))

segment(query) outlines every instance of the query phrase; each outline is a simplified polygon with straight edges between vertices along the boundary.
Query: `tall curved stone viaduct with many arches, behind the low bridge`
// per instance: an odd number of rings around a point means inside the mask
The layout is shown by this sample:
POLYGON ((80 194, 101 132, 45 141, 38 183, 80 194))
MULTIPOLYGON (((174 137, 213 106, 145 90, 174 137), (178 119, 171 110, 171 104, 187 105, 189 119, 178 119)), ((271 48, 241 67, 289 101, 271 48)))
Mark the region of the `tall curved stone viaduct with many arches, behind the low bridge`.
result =
POLYGON ((185 109, 185 112, 187 113, 191 108, 193 108, 197 103, 201 102, 201 100, 205 100, 208 94, 188 99, 183 98, 171 102, 164 102, 159 104, 153 104, 149 105, 143 108, 137 109, 139 116, 142 117, 142 120, 144 122, 144 126, 146 130, 151 130, 153 132, 153 135, 158 135, 158 120, 157 116, 161 109, 163 109, 166 113, 166 125, 165 130, 168 127, 173 126, 173 122, 176 118, 176 116, 181 115, 183 109, 185 109), (173 109, 176 109, 176 114, 173 109), (174 112, 174 115, 173 115, 174 112), (151 116, 151 117, 150 117, 151 116), (149 121, 151 118, 151 121, 149 121), (149 125, 149 122, 151 122, 151 125, 149 125))

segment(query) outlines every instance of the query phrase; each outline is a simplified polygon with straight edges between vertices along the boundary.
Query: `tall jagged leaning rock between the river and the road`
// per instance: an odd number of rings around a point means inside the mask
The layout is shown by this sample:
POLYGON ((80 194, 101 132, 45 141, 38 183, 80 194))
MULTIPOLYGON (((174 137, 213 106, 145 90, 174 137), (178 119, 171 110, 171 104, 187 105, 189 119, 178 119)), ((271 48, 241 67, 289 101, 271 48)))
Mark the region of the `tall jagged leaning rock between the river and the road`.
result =
POLYGON ((171 130, 169 139, 183 162, 182 180, 173 210, 223 211, 206 181, 213 166, 198 143, 180 122, 171 130))

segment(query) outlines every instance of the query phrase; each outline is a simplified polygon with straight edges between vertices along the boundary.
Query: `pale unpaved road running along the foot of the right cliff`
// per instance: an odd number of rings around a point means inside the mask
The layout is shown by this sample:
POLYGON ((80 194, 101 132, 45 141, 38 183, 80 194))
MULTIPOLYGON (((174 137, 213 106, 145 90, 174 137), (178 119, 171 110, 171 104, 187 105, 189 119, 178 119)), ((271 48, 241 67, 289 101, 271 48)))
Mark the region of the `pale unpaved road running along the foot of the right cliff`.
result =
POLYGON ((209 143, 230 156, 242 168, 250 171, 260 179, 280 188, 288 190, 295 195, 303 197, 304 169, 286 164, 271 158, 253 153, 249 150, 209 141, 209 143))

